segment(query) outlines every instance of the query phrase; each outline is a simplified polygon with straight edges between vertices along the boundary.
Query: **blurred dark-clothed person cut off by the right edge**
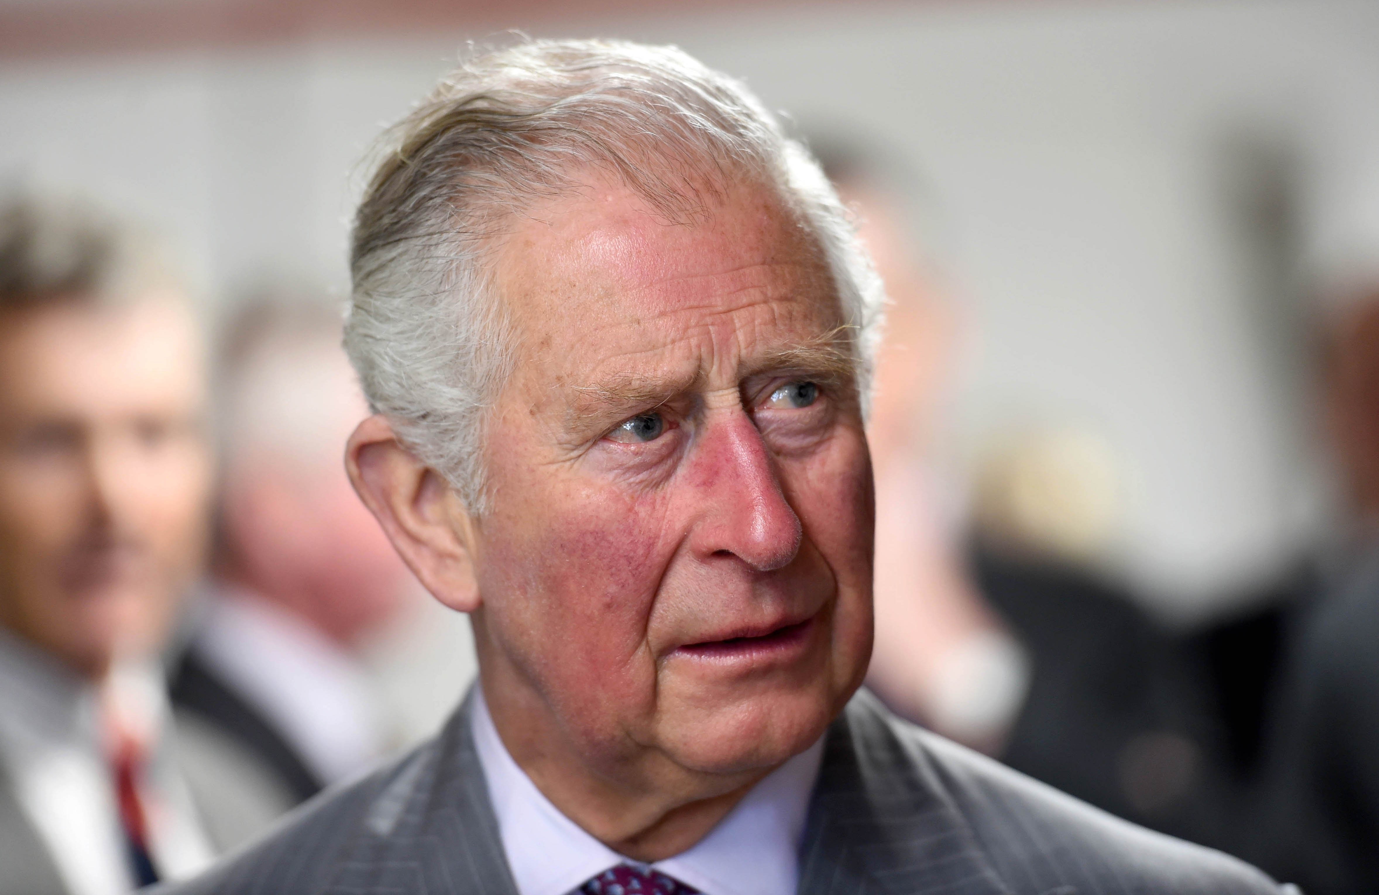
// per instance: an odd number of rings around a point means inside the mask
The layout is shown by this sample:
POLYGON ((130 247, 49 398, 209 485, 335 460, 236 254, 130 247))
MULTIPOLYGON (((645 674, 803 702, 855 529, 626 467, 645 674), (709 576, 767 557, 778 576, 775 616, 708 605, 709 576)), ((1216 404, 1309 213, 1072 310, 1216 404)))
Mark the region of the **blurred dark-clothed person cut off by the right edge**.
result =
POLYGON ((1349 524, 1271 725, 1241 849, 1314 895, 1379 892, 1379 287, 1324 332, 1324 410, 1349 524))

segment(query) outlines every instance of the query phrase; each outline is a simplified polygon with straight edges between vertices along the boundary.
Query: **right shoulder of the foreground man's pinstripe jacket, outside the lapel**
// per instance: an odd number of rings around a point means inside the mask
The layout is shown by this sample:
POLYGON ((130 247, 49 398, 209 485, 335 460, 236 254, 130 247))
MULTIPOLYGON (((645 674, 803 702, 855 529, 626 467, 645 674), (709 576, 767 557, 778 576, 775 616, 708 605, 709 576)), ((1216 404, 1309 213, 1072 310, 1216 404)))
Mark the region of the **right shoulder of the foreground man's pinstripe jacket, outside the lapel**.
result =
POLYGON ((1114 818, 907 724, 865 691, 844 718, 865 796, 929 800, 1012 892, 1288 891, 1241 861, 1114 818))

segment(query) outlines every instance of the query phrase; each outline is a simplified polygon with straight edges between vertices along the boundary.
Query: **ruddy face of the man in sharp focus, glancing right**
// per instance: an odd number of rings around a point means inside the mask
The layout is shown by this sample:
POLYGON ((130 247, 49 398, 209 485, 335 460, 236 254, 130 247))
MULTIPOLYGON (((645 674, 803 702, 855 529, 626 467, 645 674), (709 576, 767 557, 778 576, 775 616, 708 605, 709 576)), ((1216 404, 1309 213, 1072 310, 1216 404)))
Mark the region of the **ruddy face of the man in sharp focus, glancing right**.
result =
POLYGON ((763 188, 672 225, 601 185, 521 218, 496 277, 519 353, 474 549, 495 714, 607 767, 803 750, 872 647, 872 473, 812 237, 763 188))

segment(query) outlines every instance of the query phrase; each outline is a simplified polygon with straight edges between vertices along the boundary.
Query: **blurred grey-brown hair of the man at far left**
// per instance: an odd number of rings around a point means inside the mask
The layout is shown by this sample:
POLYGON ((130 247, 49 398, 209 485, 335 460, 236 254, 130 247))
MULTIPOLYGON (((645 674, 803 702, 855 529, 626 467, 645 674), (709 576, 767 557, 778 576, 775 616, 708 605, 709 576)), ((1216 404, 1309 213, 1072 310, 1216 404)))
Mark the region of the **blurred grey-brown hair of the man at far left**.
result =
POLYGON ((21 193, 0 203, 0 308, 182 292, 152 232, 90 199, 21 193))

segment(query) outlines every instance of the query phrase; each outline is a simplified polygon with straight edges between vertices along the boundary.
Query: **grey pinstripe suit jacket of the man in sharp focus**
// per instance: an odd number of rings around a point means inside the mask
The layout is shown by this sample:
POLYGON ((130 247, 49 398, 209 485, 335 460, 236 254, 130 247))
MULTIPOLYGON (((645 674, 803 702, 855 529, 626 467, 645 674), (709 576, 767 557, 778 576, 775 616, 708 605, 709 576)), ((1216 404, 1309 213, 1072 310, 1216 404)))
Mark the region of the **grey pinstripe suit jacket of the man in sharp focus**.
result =
MULTIPOLYGON (((164 895, 516 895, 467 718, 164 895)), ((800 854, 801 895, 1287 888, 905 724, 865 691, 829 730, 800 854)))

